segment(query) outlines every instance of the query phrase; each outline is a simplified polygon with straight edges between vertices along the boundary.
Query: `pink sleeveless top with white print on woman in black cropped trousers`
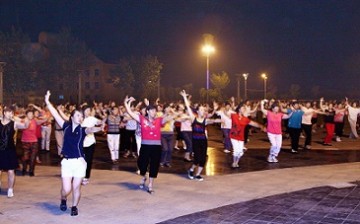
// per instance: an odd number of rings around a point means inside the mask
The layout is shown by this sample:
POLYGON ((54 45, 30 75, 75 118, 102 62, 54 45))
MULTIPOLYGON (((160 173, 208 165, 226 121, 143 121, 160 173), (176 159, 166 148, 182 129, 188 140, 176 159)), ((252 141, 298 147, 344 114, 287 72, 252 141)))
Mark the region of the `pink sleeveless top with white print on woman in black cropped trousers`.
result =
POLYGON ((140 115, 141 144, 161 145, 161 123, 162 117, 149 121, 147 117, 140 115))

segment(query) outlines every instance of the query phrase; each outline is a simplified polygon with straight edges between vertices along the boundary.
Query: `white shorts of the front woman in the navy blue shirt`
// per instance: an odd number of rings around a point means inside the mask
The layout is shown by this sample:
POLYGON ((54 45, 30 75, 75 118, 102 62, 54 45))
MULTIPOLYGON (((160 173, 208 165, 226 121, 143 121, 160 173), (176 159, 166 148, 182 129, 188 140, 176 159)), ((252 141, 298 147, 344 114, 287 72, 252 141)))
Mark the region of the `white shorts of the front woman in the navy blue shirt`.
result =
POLYGON ((61 177, 85 177, 86 161, 83 157, 77 159, 62 159, 61 177))

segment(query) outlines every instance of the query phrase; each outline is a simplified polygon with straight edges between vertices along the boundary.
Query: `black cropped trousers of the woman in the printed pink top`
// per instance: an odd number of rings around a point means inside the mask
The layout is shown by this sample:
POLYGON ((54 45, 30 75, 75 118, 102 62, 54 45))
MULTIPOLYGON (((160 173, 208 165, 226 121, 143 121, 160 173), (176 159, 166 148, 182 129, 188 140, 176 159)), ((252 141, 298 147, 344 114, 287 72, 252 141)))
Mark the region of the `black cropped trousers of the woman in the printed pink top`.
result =
POLYGON ((138 157, 140 175, 145 176, 149 168, 149 177, 156 178, 159 173, 161 145, 141 145, 138 157))

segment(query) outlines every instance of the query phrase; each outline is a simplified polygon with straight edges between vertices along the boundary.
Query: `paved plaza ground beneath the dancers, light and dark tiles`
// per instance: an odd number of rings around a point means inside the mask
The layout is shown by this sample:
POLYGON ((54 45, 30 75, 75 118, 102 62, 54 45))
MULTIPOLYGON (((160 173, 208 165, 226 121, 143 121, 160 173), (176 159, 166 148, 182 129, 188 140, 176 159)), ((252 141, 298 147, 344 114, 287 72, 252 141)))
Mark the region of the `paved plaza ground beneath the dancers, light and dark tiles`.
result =
MULTIPOLYGON (((133 158, 112 165, 98 136, 91 182, 82 188, 79 216, 59 209, 60 166, 55 150, 40 155, 35 177, 17 176, 15 196, 6 197, 2 176, 0 222, 10 223, 360 223, 360 142, 332 147, 314 136, 313 149, 291 154, 284 140, 280 163, 268 164, 264 133, 251 136, 240 169, 211 129, 205 180, 189 180, 183 151, 171 168, 161 168, 155 193, 138 187, 133 158)), ((71 197, 68 198, 68 204, 71 197)))

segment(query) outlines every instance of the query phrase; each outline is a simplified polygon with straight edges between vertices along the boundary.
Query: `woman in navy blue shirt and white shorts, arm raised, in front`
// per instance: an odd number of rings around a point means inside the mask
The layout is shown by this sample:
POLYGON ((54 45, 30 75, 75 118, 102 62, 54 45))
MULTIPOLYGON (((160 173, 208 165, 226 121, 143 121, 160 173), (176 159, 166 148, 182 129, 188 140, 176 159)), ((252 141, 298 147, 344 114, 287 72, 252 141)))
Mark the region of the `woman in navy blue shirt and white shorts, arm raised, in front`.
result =
POLYGON ((83 121, 83 113, 80 110, 73 110, 70 114, 70 120, 65 121, 55 107, 50 103, 50 91, 45 95, 45 103, 55 118, 55 121, 62 127, 64 131, 64 144, 61 154, 63 160, 61 161, 61 204, 62 211, 67 210, 66 198, 72 192, 73 201, 71 207, 71 216, 78 215, 77 205, 80 201, 81 183, 85 177, 86 162, 83 152, 83 143, 85 136, 90 133, 103 130, 102 127, 81 127, 83 121))

